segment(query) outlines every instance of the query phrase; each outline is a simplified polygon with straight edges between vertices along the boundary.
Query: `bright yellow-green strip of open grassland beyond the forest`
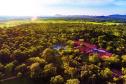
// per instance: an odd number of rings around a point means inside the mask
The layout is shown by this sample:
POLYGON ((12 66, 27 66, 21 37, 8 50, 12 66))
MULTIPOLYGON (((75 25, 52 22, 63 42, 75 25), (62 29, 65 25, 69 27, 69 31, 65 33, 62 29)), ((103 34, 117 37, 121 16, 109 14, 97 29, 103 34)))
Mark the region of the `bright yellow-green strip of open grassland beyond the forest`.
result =
POLYGON ((28 24, 28 23, 87 23, 87 24, 103 24, 103 25, 115 25, 119 23, 113 23, 113 22, 87 22, 87 21, 81 21, 81 20, 63 20, 63 19, 38 19, 38 20, 12 20, 12 21, 6 21, 1 22, 0 27, 1 28, 8 28, 13 27, 21 24, 28 24))

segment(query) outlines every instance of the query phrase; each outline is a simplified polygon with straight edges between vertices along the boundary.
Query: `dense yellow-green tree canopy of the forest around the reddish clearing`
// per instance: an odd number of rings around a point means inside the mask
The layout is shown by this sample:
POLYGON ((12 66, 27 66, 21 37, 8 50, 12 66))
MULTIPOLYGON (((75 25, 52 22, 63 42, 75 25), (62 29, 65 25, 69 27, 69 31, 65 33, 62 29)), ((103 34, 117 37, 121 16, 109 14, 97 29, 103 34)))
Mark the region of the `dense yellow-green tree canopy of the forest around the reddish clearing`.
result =
POLYGON ((1 79, 17 76, 44 84, 116 83, 126 79, 125 54, 124 24, 30 23, 0 29, 1 79), (75 45, 78 40, 79 46, 75 45), (112 55, 102 58, 99 52, 83 53, 83 41, 112 55))

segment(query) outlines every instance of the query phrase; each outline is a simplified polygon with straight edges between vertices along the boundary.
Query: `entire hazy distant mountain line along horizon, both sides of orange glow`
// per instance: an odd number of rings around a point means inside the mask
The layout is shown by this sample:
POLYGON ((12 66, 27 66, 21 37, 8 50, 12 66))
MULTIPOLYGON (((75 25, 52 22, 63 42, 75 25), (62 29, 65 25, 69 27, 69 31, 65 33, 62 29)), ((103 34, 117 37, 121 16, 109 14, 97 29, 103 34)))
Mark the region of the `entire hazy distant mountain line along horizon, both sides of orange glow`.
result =
MULTIPOLYGON (((30 16, 0 16, 0 22, 9 20, 31 20, 30 16)), ((126 23, 126 15, 113 14, 108 16, 90 16, 90 15, 60 15, 38 16, 39 19, 64 19, 64 20, 84 20, 95 22, 120 22, 126 23)))

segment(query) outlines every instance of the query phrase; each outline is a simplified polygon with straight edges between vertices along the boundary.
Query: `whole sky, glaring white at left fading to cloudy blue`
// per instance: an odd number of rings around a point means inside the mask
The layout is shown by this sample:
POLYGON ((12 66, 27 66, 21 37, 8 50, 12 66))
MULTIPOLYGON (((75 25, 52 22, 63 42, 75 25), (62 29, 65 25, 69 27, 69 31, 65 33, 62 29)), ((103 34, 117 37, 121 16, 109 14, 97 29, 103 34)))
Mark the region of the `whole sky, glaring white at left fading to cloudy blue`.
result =
POLYGON ((126 0, 0 0, 0 16, 126 14, 126 0))

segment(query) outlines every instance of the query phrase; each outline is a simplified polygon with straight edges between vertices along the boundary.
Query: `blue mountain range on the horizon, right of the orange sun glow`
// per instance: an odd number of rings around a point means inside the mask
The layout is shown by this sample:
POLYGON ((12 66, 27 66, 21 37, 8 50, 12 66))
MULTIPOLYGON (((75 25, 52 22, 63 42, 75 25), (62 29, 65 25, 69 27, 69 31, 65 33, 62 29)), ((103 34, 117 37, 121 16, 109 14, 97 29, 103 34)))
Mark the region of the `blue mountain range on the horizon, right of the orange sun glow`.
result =
POLYGON ((108 16, 89 16, 89 15, 59 15, 48 17, 55 19, 65 19, 65 20, 85 20, 85 21, 95 21, 95 22, 126 22, 126 15, 113 14, 108 16))

